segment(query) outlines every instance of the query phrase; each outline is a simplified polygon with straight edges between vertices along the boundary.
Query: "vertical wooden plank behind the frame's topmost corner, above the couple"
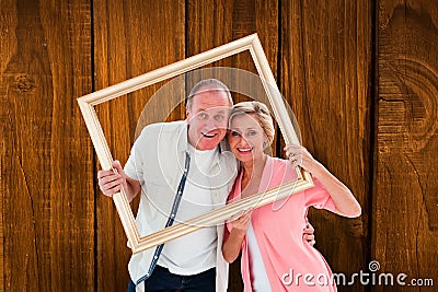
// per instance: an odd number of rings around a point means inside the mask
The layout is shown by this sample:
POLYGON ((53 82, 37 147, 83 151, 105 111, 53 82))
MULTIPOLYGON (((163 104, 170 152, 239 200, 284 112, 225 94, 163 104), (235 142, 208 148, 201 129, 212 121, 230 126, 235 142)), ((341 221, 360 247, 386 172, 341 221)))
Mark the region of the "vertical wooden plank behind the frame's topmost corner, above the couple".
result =
MULTIPOLYGON (((274 74, 278 58, 278 1, 187 1, 186 57, 257 33, 274 74)), ((256 73, 250 55, 241 54, 214 66, 256 73)), ((233 94, 234 102, 241 97, 233 94)), ((242 291, 240 260, 230 266, 229 291, 242 291)))

